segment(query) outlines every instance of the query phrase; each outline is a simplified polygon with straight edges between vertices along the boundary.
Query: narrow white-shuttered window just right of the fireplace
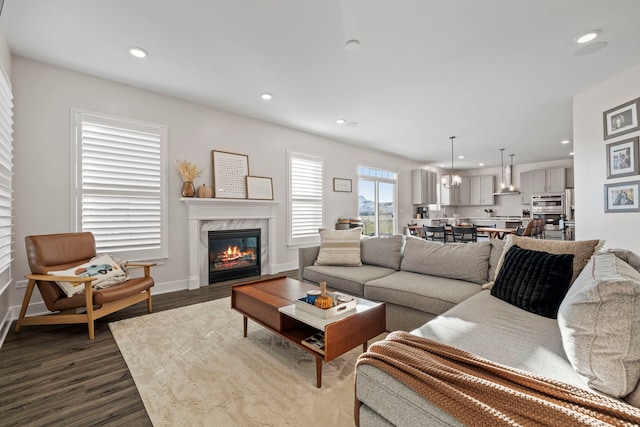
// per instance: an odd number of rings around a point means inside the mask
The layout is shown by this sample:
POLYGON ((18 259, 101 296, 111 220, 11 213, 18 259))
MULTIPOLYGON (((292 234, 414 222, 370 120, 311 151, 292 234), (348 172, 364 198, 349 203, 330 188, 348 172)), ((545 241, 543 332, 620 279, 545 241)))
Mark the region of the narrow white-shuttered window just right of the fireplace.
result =
POLYGON ((289 164, 289 245, 318 243, 323 217, 322 157, 287 152, 289 164))

